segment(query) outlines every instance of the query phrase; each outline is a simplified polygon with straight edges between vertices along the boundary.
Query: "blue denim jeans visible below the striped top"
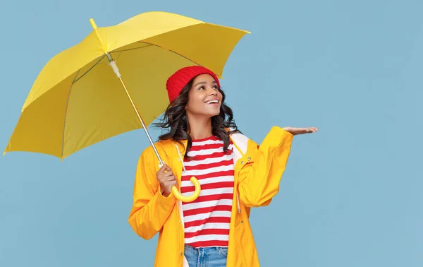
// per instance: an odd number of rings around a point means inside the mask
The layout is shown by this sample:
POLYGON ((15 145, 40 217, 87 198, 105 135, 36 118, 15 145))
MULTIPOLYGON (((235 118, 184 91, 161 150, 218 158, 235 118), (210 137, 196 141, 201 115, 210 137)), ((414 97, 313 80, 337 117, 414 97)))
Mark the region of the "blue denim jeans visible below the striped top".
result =
POLYGON ((226 267, 227 247, 200 247, 185 244, 185 258, 190 267, 226 267))

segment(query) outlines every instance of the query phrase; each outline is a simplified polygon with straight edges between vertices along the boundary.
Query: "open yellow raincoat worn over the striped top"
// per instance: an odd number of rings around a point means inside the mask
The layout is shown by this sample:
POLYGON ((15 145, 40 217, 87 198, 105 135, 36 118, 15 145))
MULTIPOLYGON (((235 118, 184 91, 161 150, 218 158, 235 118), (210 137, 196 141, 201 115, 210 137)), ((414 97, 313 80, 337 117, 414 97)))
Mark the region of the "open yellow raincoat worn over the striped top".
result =
MULTIPOLYGON (((260 146, 241 133, 231 135, 231 140, 236 148, 235 184, 226 266, 256 267, 259 259, 248 220, 250 208, 269 205, 278 193, 293 135, 274 126, 260 146)), ((178 184, 186 143, 183 142, 184 146, 171 140, 156 143, 162 160, 171 167, 178 184)), ((143 151, 137 165, 133 207, 128 221, 144 239, 159 232, 154 266, 188 267, 184 256, 182 204, 173 194, 161 195, 156 177, 158 167, 159 160, 150 146, 143 151)))

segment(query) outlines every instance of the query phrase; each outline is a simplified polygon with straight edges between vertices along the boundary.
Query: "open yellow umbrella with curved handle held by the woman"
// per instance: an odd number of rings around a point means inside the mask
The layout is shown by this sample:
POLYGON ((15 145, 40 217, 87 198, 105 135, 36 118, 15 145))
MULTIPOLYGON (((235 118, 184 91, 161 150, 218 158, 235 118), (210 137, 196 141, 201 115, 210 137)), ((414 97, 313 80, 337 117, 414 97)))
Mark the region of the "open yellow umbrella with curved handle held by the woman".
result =
MULTIPOLYGON (((4 153, 44 153, 63 160, 142 128, 163 165, 146 125, 168 105, 166 79, 194 64, 221 78, 233 48, 248 32, 165 12, 142 13, 111 27, 90 23, 93 31, 84 40, 57 54, 39 73, 4 153)), ((191 181, 196 190, 190 197, 173 186, 178 199, 193 201, 200 194, 197 179, 191 181)))

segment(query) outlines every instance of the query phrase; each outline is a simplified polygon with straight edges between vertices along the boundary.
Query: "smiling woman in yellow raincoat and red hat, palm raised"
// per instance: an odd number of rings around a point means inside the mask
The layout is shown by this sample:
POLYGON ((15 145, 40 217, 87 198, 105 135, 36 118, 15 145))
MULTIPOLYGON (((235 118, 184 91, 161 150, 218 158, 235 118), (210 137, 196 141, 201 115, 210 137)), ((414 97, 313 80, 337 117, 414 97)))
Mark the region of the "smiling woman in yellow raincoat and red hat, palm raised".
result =
POLYGON ((250 208, 267 206, 277 194, 293 136, 316 128, 274 126, 260 146, 233 122, 219 79, 209 69, 189 66, 166 83, 168 128, 140 156, 129 223, 144 239, 159 232, 154 266, 259 266, 249 223, 250 208), (171 193, 180 186, 200 196, 181 203, 171 193))

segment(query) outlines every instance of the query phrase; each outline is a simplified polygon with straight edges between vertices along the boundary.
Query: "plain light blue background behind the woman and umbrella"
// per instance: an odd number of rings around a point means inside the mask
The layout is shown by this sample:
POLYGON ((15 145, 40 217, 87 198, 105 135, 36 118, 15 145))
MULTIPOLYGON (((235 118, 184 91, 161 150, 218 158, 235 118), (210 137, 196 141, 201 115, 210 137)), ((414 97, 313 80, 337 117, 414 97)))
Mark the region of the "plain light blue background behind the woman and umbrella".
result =
MULTIPOLYGON (((240 129, 295 137, 252 211, 262 266, 423 266, 422 1, 1 1, 0 146, 44 64, 92 29, 168 11, 250 30, 222 81, 240 129)), ((152 130, 157 138, 159 131, 152 130)), ((0 158, 0 266, 153 266, 127 223, 142 130, 0 158)), ((2 148, 2 149, 3 149, 2 148)))

